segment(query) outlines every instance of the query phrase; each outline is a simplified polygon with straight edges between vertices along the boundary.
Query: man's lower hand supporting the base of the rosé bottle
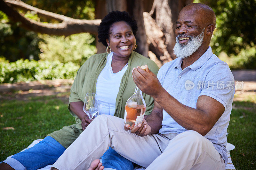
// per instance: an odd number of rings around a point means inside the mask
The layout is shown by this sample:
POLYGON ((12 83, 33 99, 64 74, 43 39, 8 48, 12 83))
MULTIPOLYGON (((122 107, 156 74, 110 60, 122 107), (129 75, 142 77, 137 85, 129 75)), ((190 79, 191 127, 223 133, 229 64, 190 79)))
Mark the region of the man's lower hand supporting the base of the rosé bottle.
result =
POLYGON ((124 125, 124 130, 129 131, 131 130, 132 133, 135 133, 138 136, 147 136, 151 132, 151 127, 148 125, 147 121, 143 119, 141 124, 137 124, 132 129, 129 128, 129 124, 124 125))

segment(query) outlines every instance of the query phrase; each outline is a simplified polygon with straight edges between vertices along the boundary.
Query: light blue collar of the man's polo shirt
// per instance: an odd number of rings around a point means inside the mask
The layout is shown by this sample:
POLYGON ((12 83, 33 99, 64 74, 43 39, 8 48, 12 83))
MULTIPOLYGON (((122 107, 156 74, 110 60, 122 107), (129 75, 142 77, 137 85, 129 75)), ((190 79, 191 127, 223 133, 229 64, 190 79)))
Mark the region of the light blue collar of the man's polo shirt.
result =
MULTIPOLYGON (((191 64, 188 67, 191 68, 193 71, 196 71, 198 68, 202 67, 207 60, 210 59, 212 54, 213 54, 212 53, 212 48, 209 46, 209 48, 206 50, 206 52, 199 59, 197 59, 193 64, 191 64)), ((182 58, 178 58, 178 61, 176 62, 177 64, 176 64, 175 67, 182 70, 181 69, 182 61, 183 61, 182 58)))

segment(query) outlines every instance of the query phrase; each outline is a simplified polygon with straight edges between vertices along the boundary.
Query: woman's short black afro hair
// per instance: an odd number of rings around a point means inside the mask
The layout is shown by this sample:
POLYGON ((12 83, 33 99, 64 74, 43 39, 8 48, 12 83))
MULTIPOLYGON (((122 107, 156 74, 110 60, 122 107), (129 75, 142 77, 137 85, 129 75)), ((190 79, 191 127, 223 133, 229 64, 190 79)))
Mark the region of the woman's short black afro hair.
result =
POLYGON ((110 27, 118 21, 125 21, 128 25, 131 26, 132 32, 136 35, 138 30, 137 22, 134 20, 126 11, 112 11, 109 12, 102 20, 98 27, 98 38, 104 46, 108 46, 106 39, 109 38, 109 29, 110 27))

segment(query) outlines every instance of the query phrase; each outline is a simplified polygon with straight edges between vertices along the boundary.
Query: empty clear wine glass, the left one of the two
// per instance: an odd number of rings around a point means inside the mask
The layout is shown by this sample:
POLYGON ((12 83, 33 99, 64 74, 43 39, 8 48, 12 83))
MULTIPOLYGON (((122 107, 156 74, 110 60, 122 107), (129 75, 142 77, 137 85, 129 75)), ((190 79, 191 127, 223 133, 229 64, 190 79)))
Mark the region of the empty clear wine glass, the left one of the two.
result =
POLYGON ((95 93, 86 93, 83 110, 91 120, 98 113, 98 99, 95 93))

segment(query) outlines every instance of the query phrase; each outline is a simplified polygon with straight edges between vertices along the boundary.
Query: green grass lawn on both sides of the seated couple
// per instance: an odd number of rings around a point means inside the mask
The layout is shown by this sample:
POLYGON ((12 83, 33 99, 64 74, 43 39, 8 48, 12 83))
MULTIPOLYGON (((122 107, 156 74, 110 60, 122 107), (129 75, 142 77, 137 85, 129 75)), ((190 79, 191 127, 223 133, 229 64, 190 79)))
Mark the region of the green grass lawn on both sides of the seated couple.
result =
MULTIPOLYGON (((233 102, 228 142, 236 169, 256 169, 256 96, 233 102)), ((56 96, 32 97, 27 101, 0 102, 0 160, 20 152, 33 140, 44 138, 64 125, 74 123, 67 102, 56 96), (14 130, 2 130, 13 127, 14 130)))

